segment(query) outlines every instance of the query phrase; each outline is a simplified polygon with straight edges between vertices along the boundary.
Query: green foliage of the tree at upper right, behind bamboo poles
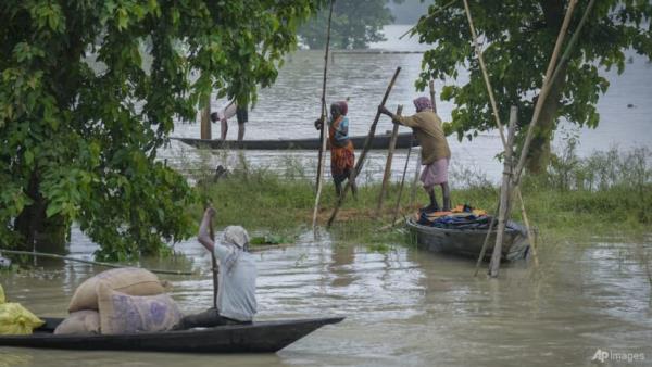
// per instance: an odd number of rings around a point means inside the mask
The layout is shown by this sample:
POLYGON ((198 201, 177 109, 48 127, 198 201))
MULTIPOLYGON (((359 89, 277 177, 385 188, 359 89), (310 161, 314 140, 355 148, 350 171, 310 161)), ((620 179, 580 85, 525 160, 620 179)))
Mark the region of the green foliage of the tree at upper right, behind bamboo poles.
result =
MULTIPOLYGON (((557 2, 469 2, 503 121, 511 105, 518 106, 521 124, 528 124, 531 118, 532 98, 539 93, 565 12, 564 7, 554 3, 557 2)), ((587 2, 578 2, 569 34, 576 31, 586 7, 587 2)), ((613 66, 618 72, 624 69, 624 51, 628 48, 652 58, 651 20, 649 1, 597 1, 565 73, 555 80, 543 106, 548 121, 540 122, 544 127, 539 141, 550 139, 560 118, 598 126, 594 105, 609 88, 602 75, 613 66)), ((462 2, 449 4, 448 0, 436 0, 416 30, 422 42, 434 47, 424 54, 423 72, 415 85, 423 90, 431 78, 447 83, 441 98, 456 105, 451 131, 457 132, 460 139, 472 139, 478 131, 496 128, 462 2), (460 72, 468 73, 468 81, 455 87, 460 72)))

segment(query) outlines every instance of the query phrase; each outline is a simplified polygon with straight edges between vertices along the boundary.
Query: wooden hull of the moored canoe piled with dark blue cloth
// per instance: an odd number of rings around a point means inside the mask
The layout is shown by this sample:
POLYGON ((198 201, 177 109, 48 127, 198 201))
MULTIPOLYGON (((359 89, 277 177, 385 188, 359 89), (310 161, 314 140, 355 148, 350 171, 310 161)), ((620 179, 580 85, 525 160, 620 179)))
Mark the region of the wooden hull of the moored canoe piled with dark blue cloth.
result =
MULTIPOLYGON (((486 229, 449 229, 419 225, 414 218, 406 222, 408 228, 421 249, 466 257, 478 258, 486 229)), ((496 230, 492 230, 487 244, 486 258, 491 256, 496 244, 496 230)), ((527 232, 521 225, 511 222, 505 229, 502 245, 502 257, 507 261, 524 258, 527 255, 529 243, 527 232)))

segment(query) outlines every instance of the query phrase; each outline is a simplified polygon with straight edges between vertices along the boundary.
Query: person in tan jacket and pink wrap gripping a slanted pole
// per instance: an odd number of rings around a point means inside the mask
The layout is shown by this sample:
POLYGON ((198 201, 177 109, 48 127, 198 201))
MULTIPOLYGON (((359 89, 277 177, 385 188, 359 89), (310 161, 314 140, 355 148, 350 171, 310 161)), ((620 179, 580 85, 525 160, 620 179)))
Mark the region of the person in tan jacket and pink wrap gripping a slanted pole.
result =
POLYGON ((421 211, 425 213, 439 212, 439 204, 435 197, 435 186, 441 186, 442 210, 451 210, 451 194, 448 185, 448 167, 451 160, 451 150, 446 140, 441 119, 432 111, 432 103, 427 97, 415 99, 416 114, 413 116, 397 116, 384 105, 378 106, 378 112, 391 117, 394 124, 411 127, 422 147, 422 164, 424 170, 421 180, 424 189, 430 197, 430 204, 421 211))

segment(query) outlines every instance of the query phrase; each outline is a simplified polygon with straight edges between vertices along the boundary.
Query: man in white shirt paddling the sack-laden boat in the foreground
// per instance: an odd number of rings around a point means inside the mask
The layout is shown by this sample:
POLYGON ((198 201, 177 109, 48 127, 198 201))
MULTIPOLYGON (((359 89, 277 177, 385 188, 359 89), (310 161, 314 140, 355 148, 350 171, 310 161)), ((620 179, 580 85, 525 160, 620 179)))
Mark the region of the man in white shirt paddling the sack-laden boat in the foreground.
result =
POLYGON ((256 269, 253 256, 248 252, 249 233, 240 226, 228 226, 224 229, 222 240, 213 242, 209 228, 214 216, 213 207, 204 212, 198 240, 215 254, 220 264, 217 309, 186 316, 177 329, 247 324, 252 321, 256 313, 256 269))

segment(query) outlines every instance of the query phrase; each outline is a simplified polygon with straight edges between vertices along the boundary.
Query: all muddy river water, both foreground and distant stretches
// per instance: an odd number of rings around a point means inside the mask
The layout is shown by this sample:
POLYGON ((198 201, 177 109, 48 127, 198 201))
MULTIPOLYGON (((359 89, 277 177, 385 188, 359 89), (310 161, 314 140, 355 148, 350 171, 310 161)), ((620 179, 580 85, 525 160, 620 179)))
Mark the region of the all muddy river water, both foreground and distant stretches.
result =
MULTIPOLYGON (((405 29, 389 29, 402 34, 405 29)), ((381 45, 401 49, 403 43, 381 45)), ((408 45, 409 50, 418 50, 408 45)), ((323 55, 296 53, 277 85, 261 92, 250 113, 249 138, 315 136, 310 122, 318 113, 323 55), (298 124, 303 122, 303 124, 298 124)), ((352 134, 366 132, 386 84, 397 66, 390 105, 412 111, 413 81, 421 54, 335 55, 329 100, 351 97, 352 134), (364 123, 362 123, 364 122, 364 123)), ((600 104, 598 130, 579 129, 580 153, 610 145, 628 149, 651 145, 652 65, 635 58, 600 104), (632 104, 628 107, 627 104, 632 104)), ((441 86, 439 86, 440 88, 441 86)), ((215 102, 217 109, 222 102, 215 102)), ((439 105, 450 119, 452 104, 439 105)), ((233 124, 229 137, 237 127, 233 124)), ((381 121, 379 130, 391 128, 381 121)), ((214 134, 217 126, 214 126, 214 134)), ((178 124, 175 135, 198 137, 199 126, 178 124)), ((500 174, 493 160, 496 135, 474 142, 449 139, 453 155, 465 166, 490 178, 500 174)), ((171 164, 196 156, 173 143, 162 152, 171 164)), ((255 164, 274 166, 283 153, 248 152, 255 164)), ((294 153, 300 161, 312 153, 294 153)), ((399 152, 396 170, 405 152, 399 152)), ((195 157, 196 159, 196 157, 195 157)), ((374 153, 373 169, 384 155, 374 153)), ((310 164, 310 166, 314 166, 310 164)), ((379 172, 379 169, 376 169, 379 172)), ((394 175, 398 173, 394 172, 394 175)), ((322 233, 303 235, 293 246, 256 253, 259 319, 346 316, 277 354, 183 355, 166 353, 63 352, 0 347, 0 366, 582 366, 597 352, 607 352, 605 364, 632 365, 613 359, 642 356, 652 366, 652 233, 636 237, 568 238, 542 243, 541 267, 517 263, 502 269, 499 279, 473 277, 474 262, 393 246, 376 252, 366 246, 341 245, 322 233)), ((96 245, 73 231, 72 256, 91 258, 96 245)), ((192 269, 193 276, 161 276, 173 286, 173 298, 186 313, 212 303, 210 257, 195 241, 177 243, 183 258, 143 260, 140 265, 192 269)), ((0 274, 8 298, 38 315, 64 316, 75 288, 103 268, 79 263, 39 260, 29 273, 0 274)), ((604 354, 600 354, 604 355, 604 354)))

